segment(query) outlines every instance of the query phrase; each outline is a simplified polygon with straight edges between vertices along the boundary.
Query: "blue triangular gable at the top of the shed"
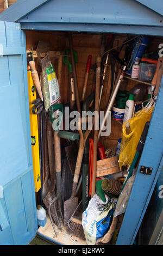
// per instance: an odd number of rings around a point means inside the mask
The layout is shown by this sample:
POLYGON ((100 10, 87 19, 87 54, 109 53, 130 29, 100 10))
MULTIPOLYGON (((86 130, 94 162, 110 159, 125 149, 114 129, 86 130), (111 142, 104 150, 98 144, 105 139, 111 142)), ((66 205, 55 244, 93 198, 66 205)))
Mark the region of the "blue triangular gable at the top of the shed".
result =
POLYGON ((0 14, 0 20, 163 27, 161 1, 18 0, 0 14))

